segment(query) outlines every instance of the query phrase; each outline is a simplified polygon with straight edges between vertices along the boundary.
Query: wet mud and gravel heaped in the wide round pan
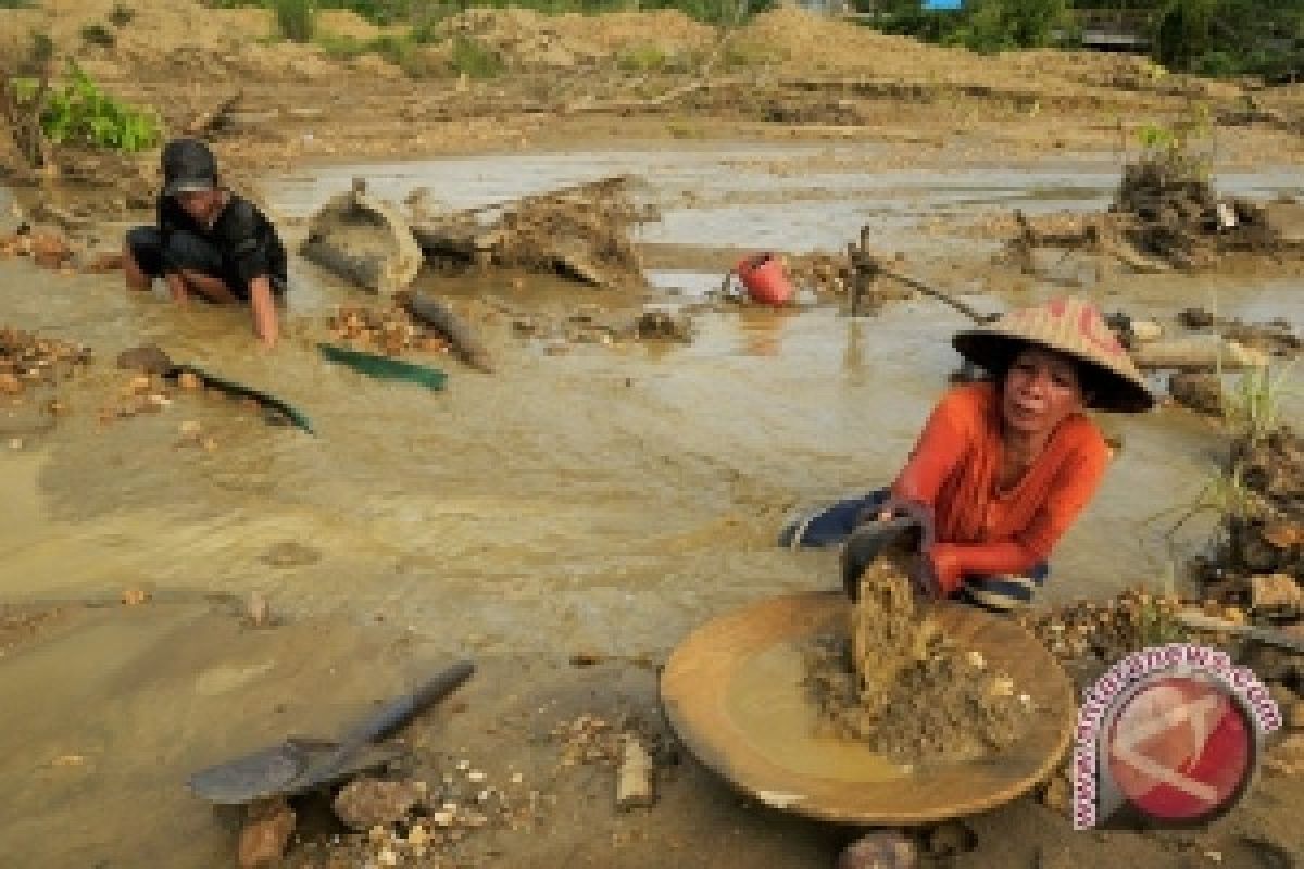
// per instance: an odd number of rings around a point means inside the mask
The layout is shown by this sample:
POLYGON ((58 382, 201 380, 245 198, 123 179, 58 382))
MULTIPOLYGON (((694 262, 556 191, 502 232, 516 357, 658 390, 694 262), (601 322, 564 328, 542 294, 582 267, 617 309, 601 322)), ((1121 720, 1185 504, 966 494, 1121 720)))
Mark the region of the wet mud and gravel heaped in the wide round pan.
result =
POLYGON ((1009 676, 915 610, 909 578, 889 558, 861 577, 848 632, 819 636, 805 651, 823 735, 861 740, 897 762, 1000 752, 1034 714, 1009 676))

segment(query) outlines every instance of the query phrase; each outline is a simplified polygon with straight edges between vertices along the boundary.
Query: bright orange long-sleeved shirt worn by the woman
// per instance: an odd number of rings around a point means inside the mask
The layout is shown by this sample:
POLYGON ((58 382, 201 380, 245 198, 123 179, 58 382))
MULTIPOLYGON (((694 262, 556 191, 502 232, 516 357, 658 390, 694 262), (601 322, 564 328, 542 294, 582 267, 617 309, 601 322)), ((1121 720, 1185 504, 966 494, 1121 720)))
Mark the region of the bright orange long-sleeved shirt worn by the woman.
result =
POLYGON ((1061 422, 1009 491, 998 491, 1000 395, 991 383, 943 396, 892 494, 932 508, 931 550, 945 594, 966 573, 1017 573, 1045 562, 1095 494, 1110 448, 1082 414, 1061 422))

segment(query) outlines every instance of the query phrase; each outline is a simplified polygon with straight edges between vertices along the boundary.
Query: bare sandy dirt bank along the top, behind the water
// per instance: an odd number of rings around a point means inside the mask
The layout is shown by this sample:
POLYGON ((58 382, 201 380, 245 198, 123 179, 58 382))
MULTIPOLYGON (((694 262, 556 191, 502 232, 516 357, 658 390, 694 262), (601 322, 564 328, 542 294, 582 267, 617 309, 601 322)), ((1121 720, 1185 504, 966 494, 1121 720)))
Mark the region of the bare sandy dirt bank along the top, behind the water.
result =
MULTIPOLYGON (((236 175, 576 135, 874 138, 909 128, 952 137, 1000 125, 1011 150, 1104 149, 1116 146, 1120 120, 1172 115, 1193 98, 1219 111, 1245 100, 1239 86, 1163 74, 1138 57, 983 57, 793 9, 729 34, 666 10, 469 9, 434 25, 421 44, 406 29, 333 12, 322 14, 318 43, 296 44, 274 39, 261 9, 180 0, 133 7, 123 22, 117 5, 47 0, 0 10, 0 60, 17 63, 30 34, 48 34, 57 57, 77 59, 110 93, 153 106, 168 134, 239 94, 213 133, 236 175), (402 48, 376 48, 382 35, 402 48), (342 42, 353 50, 340 51, 342 42), (499 74, 459 74, 467 66, 455 47, 467 42, 499 74)), ((1237 117, 1290 119, 1304 102, 1286 89, 1254 98, 1271 111, 1237 117)), ((1300 147, 1279 124, 1245 122, 1261 128, 1237 135, 1245 159, 1300 147)), ((155 156, 141 156, 145 173, 155 156)), ((12 168, 12 155, 0 150, 0 163, 12 168)))

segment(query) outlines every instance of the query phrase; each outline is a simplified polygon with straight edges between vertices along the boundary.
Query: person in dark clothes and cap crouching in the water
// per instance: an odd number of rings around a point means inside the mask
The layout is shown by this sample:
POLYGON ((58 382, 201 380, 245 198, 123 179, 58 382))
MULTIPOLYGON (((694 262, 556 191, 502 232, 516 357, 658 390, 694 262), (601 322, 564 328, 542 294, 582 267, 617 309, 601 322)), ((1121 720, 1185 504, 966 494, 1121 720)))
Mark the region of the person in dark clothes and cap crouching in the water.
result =
POLYGON ((206 145, 176 139, 163 149, 156 225, 126 233, 124 274, 132 289, 162 276, 172 298, 248 304, 254 332, 269 347, 279 335, 276 300, 286 291, 286 249, 252 202, 218 184, 206 145))

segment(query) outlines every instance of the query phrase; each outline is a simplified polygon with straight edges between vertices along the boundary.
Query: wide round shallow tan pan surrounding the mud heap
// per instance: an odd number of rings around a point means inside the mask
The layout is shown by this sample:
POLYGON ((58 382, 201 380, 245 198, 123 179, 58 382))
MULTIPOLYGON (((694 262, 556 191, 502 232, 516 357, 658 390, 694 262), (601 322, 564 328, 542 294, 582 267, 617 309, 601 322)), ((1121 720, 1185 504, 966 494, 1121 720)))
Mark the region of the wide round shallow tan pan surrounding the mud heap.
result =
POLYGON ((802 648, 842 631, 841 593, 773 598, 698 628, 661 675, 666 718, 702 763, 741 791, 823 821, 914 825, 1008 803, 1050 776, 1076 722, 1073 687, 1055 658, 1017 624, 940 605, 936 618, 961 649, 1015 680, 1037 713, 1024 739, 949 765, 902 767, 866 745, 816 737, 816 709, 801 684, 802 648))

